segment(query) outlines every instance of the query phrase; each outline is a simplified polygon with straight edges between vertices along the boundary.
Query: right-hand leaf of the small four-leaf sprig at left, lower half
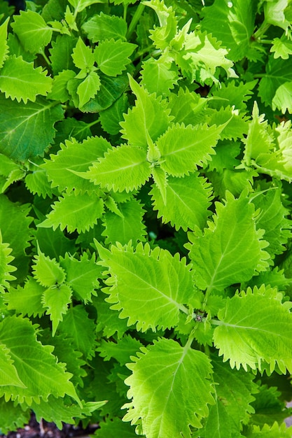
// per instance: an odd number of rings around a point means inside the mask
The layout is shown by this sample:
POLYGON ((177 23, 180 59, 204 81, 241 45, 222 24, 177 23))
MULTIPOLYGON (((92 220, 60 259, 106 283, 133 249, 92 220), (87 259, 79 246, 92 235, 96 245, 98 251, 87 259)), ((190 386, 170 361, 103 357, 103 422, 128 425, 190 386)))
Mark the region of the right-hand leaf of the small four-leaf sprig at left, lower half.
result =
POLYGON ((66 254, 60 260, 60 265, 66 271, 66 283, 73 289, 77 299, 87 304, 92 301, 92 295, 97 295, 95 289, 102 278, 102 269, 95 262, 95 255, 88 258, 87 253, 81 255, 80 260, 66 254))

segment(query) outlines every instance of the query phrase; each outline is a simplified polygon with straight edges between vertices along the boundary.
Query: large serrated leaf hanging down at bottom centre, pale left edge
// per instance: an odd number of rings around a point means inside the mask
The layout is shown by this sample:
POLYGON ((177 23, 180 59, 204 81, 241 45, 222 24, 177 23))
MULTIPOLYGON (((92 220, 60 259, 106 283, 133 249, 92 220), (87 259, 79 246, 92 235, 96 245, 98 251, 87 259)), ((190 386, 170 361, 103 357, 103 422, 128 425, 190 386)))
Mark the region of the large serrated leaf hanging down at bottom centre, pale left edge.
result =
POLYGON ((190 438, 189 425, 200 428, 207 404, 214 403, 209 359, 188 344, 164 338, 141 351, 127 365, 132 375, 125 383, 132 402, 125 405, 129 410, 123 420, 141 423, 147 438, 190 438))

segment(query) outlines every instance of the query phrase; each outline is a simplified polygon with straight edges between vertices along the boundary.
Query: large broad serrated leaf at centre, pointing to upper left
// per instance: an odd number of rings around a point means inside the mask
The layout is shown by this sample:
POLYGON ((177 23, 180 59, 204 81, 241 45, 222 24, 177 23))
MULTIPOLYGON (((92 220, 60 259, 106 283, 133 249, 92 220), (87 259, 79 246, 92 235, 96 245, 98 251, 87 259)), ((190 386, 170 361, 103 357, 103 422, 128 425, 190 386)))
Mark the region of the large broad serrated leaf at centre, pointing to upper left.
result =
POLYGON ((137 330, 153 331, 174 327, 179 311, 194 294, 193 277, 186 259, 174 257, 160 248, 150 249, 138 243, 132 246, 111 246, 104 256, 96 245, 102 266, 109 268, 111 278, 106 280, 111 309, 120 311, 120 318, 129 318, 128 325, 137 324, 137 330), (169 278, 172 281, 169 281, 169 278), (111 287, 112 286, 112 287, 111 287))

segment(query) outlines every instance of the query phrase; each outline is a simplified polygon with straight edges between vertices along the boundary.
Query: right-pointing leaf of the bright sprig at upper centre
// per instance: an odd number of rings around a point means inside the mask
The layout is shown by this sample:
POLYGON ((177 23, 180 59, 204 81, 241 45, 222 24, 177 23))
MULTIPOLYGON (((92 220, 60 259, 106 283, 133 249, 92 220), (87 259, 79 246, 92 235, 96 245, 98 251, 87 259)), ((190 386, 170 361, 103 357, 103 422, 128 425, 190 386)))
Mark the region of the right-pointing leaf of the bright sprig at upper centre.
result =
POLYGON ((211 160, 222 127, 176 124, 167 129, 156 145, 161 153, 160 166, 169 175, 183 176, 211 160))

